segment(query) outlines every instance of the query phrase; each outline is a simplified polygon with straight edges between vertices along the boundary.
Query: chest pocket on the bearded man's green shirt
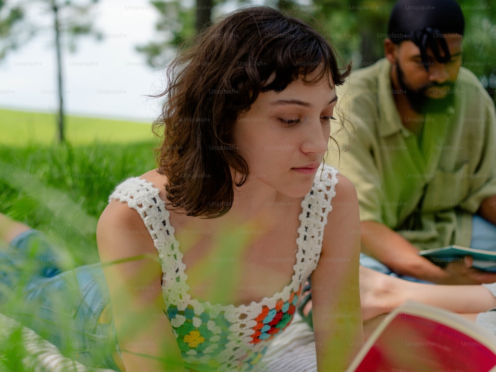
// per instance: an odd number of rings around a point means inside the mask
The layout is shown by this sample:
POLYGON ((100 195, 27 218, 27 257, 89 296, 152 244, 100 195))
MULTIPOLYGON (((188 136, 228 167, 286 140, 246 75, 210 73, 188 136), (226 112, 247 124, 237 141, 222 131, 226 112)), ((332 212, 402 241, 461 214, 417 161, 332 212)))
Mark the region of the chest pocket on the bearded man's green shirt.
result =
POLYGON ((459 208, 468 193, 468 171, 468 163, 463 163, 454 171, 438 169, 427 184, 422 210, 435 212, 459 208))

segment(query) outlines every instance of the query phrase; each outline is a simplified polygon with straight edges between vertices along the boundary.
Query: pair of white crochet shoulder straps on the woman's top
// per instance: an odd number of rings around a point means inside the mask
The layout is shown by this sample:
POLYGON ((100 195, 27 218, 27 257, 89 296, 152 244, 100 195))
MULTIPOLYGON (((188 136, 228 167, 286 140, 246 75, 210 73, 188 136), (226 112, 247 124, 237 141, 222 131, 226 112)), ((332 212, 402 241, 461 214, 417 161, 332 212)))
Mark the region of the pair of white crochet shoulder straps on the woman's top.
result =
MULTIPOLYGON (((331 200, 338 182, 336 175, 336 169, 322 164, 310 193, 302 201, 294 274, 291 285, 280 293, 283 297, 296 291, 317 266, 327 214, 332 210, 331 200)), ((117 186, 110 195, 109 200, 112 199, 126 202, 139 213, 161 259, 164 298, 168 299, 168 303, 183 303, 186 306, 189 300, 186 265, 179 242, 174 237, 174 227, 169 221, 170 213, 159 196, 159 190, 150 182, 134 177, 117 186)))

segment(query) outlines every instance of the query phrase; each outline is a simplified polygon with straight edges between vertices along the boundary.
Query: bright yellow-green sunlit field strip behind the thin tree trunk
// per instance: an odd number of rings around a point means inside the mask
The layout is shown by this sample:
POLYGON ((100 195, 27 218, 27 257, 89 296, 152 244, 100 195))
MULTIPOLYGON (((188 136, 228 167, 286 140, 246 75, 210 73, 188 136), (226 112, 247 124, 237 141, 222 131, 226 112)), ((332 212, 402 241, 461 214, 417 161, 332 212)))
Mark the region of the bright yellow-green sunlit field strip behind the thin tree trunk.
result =
MULTIPOLYGON (((0 145, 56 143, 56 116, 0 109, 0 145)), ((67 116, 65 138, 71 144, 128 143, 152 140, 151 123, 67 116)))

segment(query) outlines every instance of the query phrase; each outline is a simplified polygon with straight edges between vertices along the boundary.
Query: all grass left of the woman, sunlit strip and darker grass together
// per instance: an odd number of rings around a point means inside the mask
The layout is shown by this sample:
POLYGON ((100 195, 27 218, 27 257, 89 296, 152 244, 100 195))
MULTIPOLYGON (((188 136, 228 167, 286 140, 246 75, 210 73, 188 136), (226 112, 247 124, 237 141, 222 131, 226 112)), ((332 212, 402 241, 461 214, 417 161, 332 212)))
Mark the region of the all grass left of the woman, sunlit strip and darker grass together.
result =
MULTIPOLYGON (((71 264, 94 263, 96 225, 108 196, 125 178, 155 167, 158 142, 150 125, 68 117, 67 141, 60 145, 54 123, 49 114, 0 110, 0 213, 45 233, 71 264)), ((26 311, 24 300, 17 298, 22 291, 15 288, 8 289, 9 301, 0 296, 1 312, 26 311)), ((62 329, 60 319, 54 326, 62 329)), ((25 371, 20 362, 24 344, 17 331, 0 341, 0 371, 25 371)))

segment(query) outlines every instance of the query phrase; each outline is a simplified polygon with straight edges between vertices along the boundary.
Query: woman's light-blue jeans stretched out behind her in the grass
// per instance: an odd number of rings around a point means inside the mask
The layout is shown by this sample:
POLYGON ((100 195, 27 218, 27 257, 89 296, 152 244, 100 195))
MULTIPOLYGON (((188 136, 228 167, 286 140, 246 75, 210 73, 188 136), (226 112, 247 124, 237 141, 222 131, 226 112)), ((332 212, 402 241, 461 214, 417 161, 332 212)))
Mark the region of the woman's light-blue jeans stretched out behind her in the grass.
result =
POLYGON ((0 251, 0 312, 87 367, 120 371, 112 359, 119 351, 114 322, 101 316, 110 304, 101 264, 63 270, 58 252, 36 230, 0 251))

